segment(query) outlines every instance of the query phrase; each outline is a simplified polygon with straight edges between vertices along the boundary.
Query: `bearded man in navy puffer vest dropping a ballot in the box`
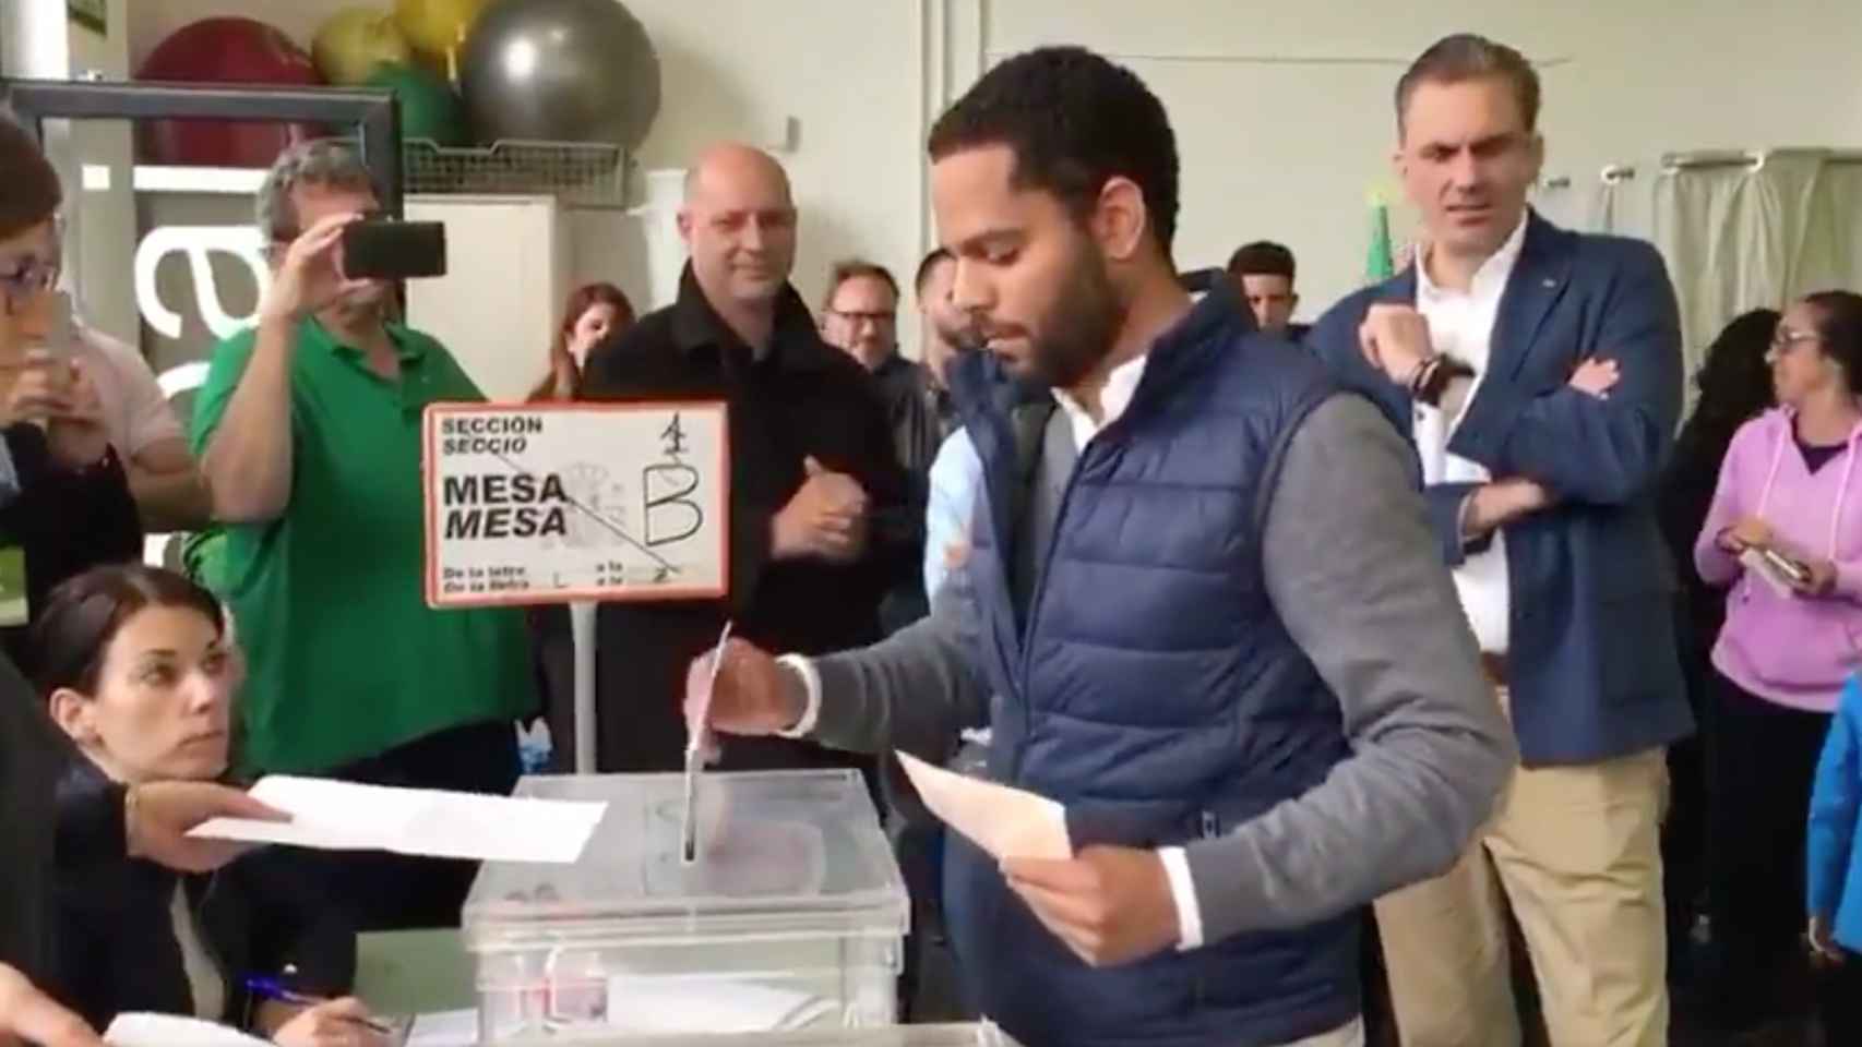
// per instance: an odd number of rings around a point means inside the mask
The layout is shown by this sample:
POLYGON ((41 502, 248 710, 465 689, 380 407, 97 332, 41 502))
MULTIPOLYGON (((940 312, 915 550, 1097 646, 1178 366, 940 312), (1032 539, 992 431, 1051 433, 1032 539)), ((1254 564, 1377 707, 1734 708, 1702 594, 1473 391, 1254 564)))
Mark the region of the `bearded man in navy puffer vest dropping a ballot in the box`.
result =
POLYGON ((730 645, 711 723, 927 759, 994 729, 1074 848, 951 839, 965 987, 1030 1047, 1357 1043, 1357 909, 1447 868, 1514 759, 1413 457, 1233 290, 1179 286, 1175 138, 1127 69, 1011 58, 929 152, 955 305, 1052 396, 961 361, 965 569, 873 647, 730 645))

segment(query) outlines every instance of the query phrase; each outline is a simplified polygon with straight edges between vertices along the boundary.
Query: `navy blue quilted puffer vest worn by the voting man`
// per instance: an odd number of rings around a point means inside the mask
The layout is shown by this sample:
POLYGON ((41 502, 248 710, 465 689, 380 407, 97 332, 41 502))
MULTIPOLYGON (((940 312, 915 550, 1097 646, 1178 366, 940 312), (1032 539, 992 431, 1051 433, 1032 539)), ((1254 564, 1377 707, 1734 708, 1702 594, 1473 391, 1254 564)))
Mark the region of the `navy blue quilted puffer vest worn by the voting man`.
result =
MULTIPOLYGON (((985 472, 968 571, 992 775, 1063 802, 1074 848, 1186 844, 1318 785, 1346 755, 1339 703, 1268 601, 1261 541, 1287 439, 1333 392, 1324 366, 1253 333, 1227 290, 1197 303, 1082 448, 1020 616, 1009 398, 987 366, 953 370, 985 472)), ((1030 1047, 1274 1045, 1357 1014, 1356 913, 1095 971, 950 846, 966 987, 1030 1047)))

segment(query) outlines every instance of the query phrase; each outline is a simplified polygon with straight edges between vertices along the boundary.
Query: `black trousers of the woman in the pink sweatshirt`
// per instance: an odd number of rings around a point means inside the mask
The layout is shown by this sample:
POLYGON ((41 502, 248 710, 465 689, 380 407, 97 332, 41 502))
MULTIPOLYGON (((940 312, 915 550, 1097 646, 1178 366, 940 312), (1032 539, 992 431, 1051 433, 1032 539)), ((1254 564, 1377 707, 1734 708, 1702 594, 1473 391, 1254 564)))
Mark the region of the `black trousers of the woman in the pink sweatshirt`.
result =
POLYGON ((1713 999, 1741 1030, 1808 1002, 1802 945, 1804 822, 1830 716, 1747 694, 1715 673, 1707 900, 1719 954, 1713 999))

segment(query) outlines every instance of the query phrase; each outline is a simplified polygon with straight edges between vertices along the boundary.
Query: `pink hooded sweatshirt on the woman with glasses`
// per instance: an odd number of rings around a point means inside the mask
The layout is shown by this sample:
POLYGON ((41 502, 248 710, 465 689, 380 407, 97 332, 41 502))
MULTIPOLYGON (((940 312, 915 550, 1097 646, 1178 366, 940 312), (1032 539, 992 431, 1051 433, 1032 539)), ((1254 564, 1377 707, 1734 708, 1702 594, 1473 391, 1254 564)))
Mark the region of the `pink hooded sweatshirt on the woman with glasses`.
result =
POLYGON ((1707 584, 1732 584, 1713 666, 1778 705, 1834 712, 1843 677, 1862 668, 1862 424, 1849 431, 1847 452, 1810 472, 1791 417, 1774 407, 1734 433, 1694 541, 1694 565, 1707 584), (1782 595, 1748 573, 1719 545, 1720 532, 1743 517, 1771 524, 1782 552, 1834 562, 1834 591, 1782 595))

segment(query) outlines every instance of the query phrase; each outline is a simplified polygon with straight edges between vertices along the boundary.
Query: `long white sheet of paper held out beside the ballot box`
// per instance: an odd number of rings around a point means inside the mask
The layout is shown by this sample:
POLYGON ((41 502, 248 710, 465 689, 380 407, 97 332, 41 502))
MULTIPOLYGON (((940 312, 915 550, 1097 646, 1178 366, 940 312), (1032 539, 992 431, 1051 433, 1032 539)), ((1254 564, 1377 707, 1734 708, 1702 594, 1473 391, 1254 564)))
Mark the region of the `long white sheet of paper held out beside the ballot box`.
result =
POLYGON ((290 822, 214 818, 188 835, 318 850, 568 865, 581 857, 607 813, 607 803, 600 802, 518 800, 281 774, 259 779, 251 794, 287 811, 290 822))

